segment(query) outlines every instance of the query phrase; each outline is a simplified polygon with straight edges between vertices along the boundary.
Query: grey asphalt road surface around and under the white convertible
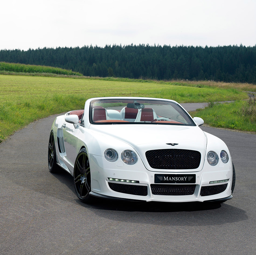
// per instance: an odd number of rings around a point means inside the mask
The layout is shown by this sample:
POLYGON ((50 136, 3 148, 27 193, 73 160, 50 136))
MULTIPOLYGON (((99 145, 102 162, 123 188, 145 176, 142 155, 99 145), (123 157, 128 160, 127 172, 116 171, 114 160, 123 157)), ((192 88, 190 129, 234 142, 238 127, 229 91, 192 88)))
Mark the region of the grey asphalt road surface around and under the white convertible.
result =
POLYGON ((87 205, 71 175, 48 171, 54 118, 0 144, 0 254, 256 253, 256 135, 202 127, 226 142, 236 168, 234 198, 223 204, 87 205))

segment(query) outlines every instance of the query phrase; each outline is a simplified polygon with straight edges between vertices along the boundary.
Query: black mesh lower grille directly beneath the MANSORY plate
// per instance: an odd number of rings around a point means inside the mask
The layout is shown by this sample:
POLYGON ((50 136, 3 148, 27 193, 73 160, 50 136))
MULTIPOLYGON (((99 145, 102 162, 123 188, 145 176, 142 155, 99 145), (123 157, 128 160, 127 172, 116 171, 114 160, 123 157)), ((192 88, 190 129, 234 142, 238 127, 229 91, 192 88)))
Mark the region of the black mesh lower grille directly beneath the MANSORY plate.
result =
POLYGON ((193 195, 196 185, 151 184, 150 187, 153 195, 185 196, 193 195))

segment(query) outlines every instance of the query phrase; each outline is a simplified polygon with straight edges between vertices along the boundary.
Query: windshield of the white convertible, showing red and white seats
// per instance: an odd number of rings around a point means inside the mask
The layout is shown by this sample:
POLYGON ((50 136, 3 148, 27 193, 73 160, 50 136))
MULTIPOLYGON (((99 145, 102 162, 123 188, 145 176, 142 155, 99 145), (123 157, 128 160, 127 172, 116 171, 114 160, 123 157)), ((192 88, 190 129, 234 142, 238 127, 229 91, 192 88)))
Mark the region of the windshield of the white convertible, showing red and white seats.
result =
POLYGON ((177 103, 153 99, 101 99, 90 104, 92 124, 166 124, 194 126, 177 103))

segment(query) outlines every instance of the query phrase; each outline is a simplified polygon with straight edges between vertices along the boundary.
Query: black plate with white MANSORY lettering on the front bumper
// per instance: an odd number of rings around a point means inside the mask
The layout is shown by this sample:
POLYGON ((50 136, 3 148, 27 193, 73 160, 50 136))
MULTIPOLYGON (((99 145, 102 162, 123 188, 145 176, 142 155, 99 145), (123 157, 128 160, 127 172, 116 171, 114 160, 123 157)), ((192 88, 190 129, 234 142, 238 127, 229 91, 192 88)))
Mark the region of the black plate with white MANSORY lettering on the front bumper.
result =
POLYGON ((155 174, 155 183, 196 183, 195 174, 155 174))

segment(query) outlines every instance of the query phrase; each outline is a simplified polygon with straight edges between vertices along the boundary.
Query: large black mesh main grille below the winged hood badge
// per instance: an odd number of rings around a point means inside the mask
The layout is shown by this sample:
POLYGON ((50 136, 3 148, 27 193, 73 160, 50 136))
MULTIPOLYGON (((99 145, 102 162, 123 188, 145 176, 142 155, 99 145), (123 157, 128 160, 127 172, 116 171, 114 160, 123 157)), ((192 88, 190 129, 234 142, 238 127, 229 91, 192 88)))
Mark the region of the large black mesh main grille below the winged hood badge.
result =
POLYGON ((146 158, 155 169, 195 169, 199 167, 201 153, 181 149, 148 150, 146 158))

